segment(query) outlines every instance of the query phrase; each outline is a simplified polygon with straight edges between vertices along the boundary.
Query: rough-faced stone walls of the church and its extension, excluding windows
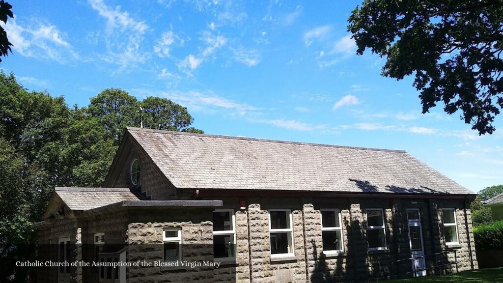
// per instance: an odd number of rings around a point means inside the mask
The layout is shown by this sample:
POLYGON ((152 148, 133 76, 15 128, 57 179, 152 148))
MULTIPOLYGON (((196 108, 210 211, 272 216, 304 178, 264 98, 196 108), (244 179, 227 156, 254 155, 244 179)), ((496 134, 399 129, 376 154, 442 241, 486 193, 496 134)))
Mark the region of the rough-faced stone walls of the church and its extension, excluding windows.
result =
MULTIPOLYGON (((425 254, 450 251, 427 257, 428 274, 456 272, 478 268, 473 245, 471 213, 464 200, 411 198, 316 198, 316 197, 247 197, 246 209, 239 209, 238 197, 212 197, 223 200, 223 209, 235 211, 236 261, 215 269, 206 268, 128 268, 128 282, 325 282, 365 281, 393 277, 411 271, 407 208, 419 208, 425 254), (465 206, 466 205, 466 206, 465 206), (269 209, 290 209, 294 238, 294 256, 272 258, 269 209), (325 254, 322 247, 320 209, 338 208, 341 212, 344 251, 325 254), (386 250, 369 251, 367 239, 368 208, 384 211, 386 250), (459 244, 446 245, 442 208, 455 208, 459 244), (469 251, 471 250, 471 255, 469 251), (456 251, 456 257, 454 252, 456 251), (458 264, 432 268, 438 261, 458 264)), ((128 261, 158 261, 162 255, 164 228, 181 228, 183 260, 213 261, 212 208, 169 208, 128 210, 127 213, 103 213, 85 221, 62 219, 39 231, 41 243, 57 243, 70 237, 72 243, 93 243, 94 233, 105 233, 106 243, 127 243, 128 261)), ((56 246, 57 248, 57 246, 56 246)), ((57 260, 57 250, 50 251, 57 260)), ((77 259, 91 257, 91 252, 75 249, 77 259), (79 254, 80 253, 80 254, 79 254)), ((39 282, 57 279, 57 269, 42 268, 39 282)), ((91 269, 90 269, 91 270, 91 269)), ((97 271, 71 270, 72 282, 97 281, 97 271), (94 274, 94 275, 93 275, 94 274)), ((408 275, 404 275, 406 277, 408 275)))

